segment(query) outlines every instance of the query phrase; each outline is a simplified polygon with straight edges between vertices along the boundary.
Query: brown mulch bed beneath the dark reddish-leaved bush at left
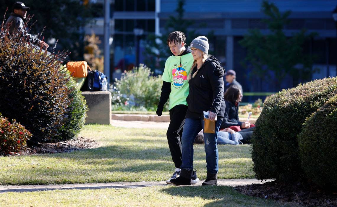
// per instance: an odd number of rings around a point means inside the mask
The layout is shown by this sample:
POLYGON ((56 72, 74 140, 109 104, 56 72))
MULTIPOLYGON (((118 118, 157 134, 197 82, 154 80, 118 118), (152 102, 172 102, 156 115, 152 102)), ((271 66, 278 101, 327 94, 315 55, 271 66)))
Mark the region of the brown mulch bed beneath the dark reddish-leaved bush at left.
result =
POLYGON ((22 155, 43 154, 43 153, 64 153, 76 150, 97 148, 95 140, 77 137, 58 143, 40 143, 37 146, 27 147, 21 152, 22 155))

